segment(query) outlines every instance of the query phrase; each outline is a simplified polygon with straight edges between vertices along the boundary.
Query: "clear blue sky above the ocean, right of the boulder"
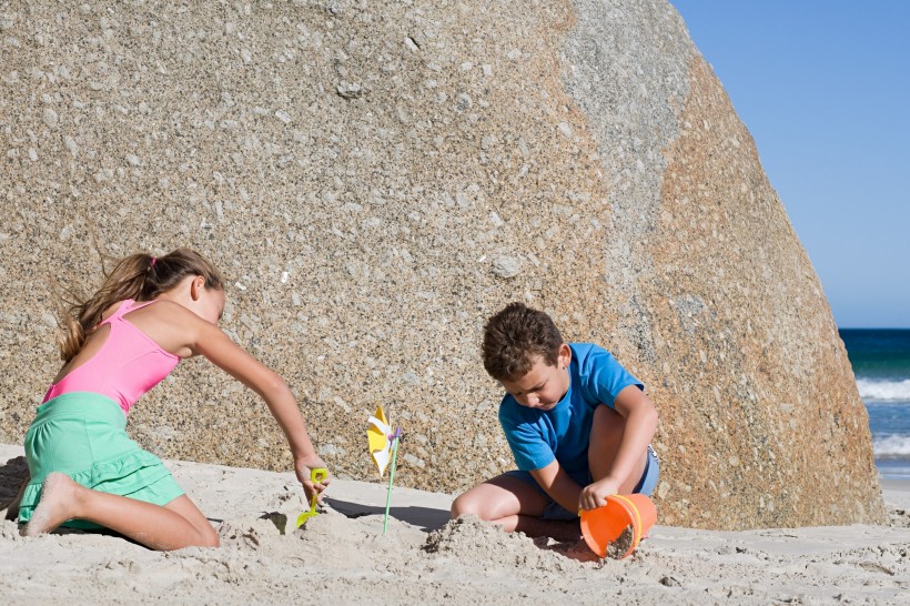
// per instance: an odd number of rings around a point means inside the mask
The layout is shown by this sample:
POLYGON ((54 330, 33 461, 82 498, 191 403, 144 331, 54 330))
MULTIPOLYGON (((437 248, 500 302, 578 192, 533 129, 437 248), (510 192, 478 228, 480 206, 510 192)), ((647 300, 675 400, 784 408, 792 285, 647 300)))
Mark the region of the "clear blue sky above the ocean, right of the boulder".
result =
POLYGON ((841 327, 910 327, 910 1, 670 0, 841 327))

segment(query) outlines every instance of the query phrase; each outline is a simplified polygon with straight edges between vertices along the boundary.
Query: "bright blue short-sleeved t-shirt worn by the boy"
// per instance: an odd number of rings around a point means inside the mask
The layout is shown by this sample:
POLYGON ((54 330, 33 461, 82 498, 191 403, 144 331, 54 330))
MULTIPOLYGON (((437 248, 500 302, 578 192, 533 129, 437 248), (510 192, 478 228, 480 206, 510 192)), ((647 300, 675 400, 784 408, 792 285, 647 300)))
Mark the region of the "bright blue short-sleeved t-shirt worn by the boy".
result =
POLYGON ((522 471, 546 467, 554 458, 568 474, 587 471, 597 405, 613 408, 616 396, 629 385, 645 390, 604 347, 569 343, 569 388, 553 410, 522 406, 512 394, 499 403, 499 423, 522 471))

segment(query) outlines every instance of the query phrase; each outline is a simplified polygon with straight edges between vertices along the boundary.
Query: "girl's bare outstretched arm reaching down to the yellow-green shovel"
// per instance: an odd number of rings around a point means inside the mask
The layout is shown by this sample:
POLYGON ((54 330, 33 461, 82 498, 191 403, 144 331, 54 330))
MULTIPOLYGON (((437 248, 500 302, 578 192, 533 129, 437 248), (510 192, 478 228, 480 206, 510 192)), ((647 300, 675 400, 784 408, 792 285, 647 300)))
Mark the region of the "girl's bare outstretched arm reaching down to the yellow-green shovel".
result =
POLYGON ((287 437, 291 454, 294 457, 294 471, 307 493, 307 499, 313 495, 312 489, 320 493, 325 489, 328 479, 315 486, 310 481, 311 469, 325 467, 325 463, 316 454, 294 394, 291 393, 284 380, 246 353, 221 329, 188 311, 189 315, 192 317, 188 317, 190 321, 190 330, 186 331, 190 337, 188 346, 193 354, 204 355, 265 401, 272 416, 275 417, 287 437))

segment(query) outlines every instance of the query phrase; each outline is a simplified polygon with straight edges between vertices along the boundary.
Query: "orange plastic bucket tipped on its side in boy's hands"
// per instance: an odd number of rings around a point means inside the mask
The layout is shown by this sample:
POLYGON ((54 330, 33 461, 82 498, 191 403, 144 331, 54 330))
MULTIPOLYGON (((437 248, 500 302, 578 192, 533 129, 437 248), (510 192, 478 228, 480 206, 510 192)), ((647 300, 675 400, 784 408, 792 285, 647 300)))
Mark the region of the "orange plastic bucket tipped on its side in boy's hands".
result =
MULTIPOLYGON (((657 521, 654 502, 645 495, 610 495, 607 504, 596 509, 582 511, 582 534, 590 551, 607 557, 607 547, 628 527, 631 527, 631 543, 625 554, 611 554, 617 559, 631 554, 657 521)), ((624 542, 625 543, 625 542, 624 542)), ((619 546, 619 545, 617 545, 619 546)), ((620 551, 623 546, 619 546, 620 551)))

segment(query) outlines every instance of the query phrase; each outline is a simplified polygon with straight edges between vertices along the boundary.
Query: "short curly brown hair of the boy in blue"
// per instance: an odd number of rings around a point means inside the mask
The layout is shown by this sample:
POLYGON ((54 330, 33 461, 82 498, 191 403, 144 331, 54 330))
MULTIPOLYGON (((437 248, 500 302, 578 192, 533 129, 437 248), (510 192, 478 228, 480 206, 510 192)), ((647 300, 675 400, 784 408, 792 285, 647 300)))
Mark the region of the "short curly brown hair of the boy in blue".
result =
POLYGON ((509 303, 484 326, 484 368, 497 381, 526 375, 536 356, 555 366, 563 335, 553 320, 524 303, 509 303))

